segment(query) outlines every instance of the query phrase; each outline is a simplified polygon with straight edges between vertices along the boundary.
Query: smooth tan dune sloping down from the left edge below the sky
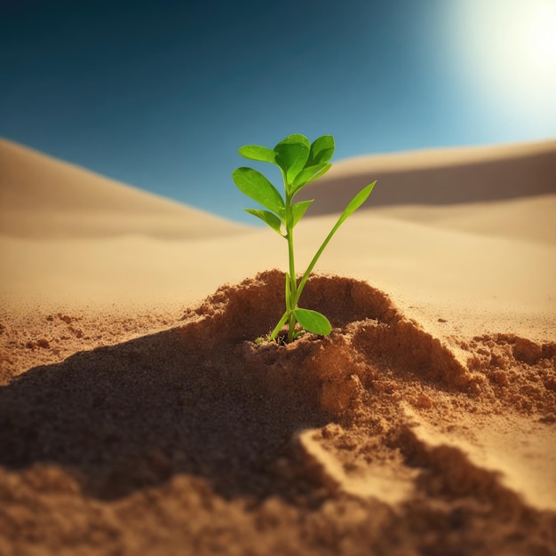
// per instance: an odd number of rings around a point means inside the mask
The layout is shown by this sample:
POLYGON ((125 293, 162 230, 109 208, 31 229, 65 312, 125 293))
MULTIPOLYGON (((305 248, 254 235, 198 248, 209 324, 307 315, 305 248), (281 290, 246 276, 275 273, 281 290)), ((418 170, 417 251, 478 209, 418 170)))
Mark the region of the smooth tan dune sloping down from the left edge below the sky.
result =
POLYGON ((244 228, 0 139, 0 234, 194 239, 244 228))

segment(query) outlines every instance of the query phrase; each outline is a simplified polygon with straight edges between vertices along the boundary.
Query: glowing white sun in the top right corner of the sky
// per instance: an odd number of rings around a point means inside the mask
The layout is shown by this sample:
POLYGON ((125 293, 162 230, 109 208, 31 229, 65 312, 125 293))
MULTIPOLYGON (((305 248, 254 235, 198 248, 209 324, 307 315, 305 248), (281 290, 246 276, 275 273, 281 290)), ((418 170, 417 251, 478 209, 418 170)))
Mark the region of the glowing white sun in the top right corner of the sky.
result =
POLYGON ((556 118, 556 0, 465 0, 458 50, 471 84, 508 115, 556 118))

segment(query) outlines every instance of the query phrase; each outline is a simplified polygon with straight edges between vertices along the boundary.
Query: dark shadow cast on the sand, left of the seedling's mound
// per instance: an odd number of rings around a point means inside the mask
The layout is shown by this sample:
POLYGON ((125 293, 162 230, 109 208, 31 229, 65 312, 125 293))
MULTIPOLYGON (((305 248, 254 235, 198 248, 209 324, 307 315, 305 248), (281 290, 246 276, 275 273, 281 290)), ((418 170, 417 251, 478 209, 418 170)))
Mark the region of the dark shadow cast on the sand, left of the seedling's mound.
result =
POLYGON ((0 389, 0 465, 61 465, 99 498, 175 473, 202 476, 224 496, 268 494, 292 435, 323 416, 261 392, 229 344, 199 344, 198 331, 186 325, 28 370, 0 389))

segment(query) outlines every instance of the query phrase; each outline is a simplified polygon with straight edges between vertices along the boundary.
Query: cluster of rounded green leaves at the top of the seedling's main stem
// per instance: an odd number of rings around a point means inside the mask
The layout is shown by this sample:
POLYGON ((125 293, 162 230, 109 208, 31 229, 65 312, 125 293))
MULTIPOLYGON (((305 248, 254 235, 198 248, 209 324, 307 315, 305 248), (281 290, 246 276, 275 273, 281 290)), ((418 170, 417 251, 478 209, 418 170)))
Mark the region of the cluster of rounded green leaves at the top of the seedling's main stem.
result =
POLYGON ((282 197, 263 174, 252 168, 236 169, 233 178, 243 194, 268 209, 245 210, 283 235, 282 224, 286 227, 295 226, 313 203, 302 201, 292 204, 291 200, 308 183, 330 170, 329 161, 334 154, 334 138, 331 135, 323 135, 310 143, 304 135, 294 133, 282 139, 274 149, 246 145, 239 149, 239 153, 250 160, 273 163, 282 171, 285 197, 282 197), (289 210, 286 210, 286 207, 289 210))

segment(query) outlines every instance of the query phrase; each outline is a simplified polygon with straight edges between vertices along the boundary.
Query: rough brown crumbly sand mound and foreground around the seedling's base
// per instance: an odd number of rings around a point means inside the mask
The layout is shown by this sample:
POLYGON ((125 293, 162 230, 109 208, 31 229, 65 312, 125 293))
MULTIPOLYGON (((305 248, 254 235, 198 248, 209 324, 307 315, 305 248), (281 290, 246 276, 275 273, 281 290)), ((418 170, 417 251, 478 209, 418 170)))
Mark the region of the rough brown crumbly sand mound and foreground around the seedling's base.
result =
POLYGON ((258 274, 111 338, 4 315, 0 552, 556 553, 554 343, 448 345, 317 275, 330 337, 254 344, 282 291, 258 274))

